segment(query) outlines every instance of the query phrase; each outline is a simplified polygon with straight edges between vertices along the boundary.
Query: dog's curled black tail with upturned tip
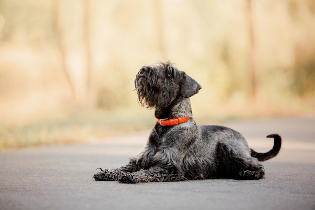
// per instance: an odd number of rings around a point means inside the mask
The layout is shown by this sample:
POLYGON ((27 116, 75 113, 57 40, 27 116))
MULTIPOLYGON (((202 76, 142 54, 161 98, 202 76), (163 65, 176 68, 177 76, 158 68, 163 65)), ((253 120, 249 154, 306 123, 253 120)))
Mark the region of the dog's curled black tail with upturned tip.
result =
POLYGON ((267 153, 257 153, 254 150, 251 149, 251 156, 254 158, 257 158, 259 161, 266 161, 273 157, 275 157, 281 148, 281 136, 278 134, 270 134, 267 135, 267 138, 273 138, 274 139, 274 145, 273 148, 267 152, 267 153))

